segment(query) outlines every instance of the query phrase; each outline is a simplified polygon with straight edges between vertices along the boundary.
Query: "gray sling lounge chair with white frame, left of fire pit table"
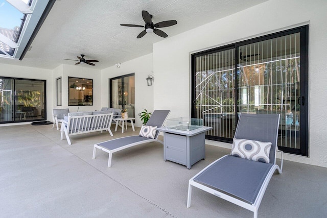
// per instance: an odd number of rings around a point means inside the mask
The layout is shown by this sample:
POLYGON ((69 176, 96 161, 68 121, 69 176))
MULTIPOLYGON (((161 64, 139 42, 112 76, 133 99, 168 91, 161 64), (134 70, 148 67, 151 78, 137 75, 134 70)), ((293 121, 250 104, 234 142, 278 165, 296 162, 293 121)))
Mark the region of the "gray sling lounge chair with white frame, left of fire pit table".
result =
MULTIPOLYGON (((146 126, 162 127, 162 125, 164 125, 165 120, 167 119, 169 113, 170 113, 170 110, 154 110, 150 119, 148 120, 146 126)), ((160 142, 161 144, 164 144, 164 142, 157 139, 159 136, 159 132, 160 131, 156 131, 154 138, 146 138, 143 136, 135 135, 135 136, 116 138, 116 139, 112 139, 109 141, 97 143, 94 145, 92 158, 93 159, 96 158, 96 150, 97 149, 107 152, 107 153, 109 153, 108 167, 111 167, 112 153, 121 151, 123 149, 130 148, 133 146, 137 146, 138 144, 147 143, 147 142, 157 141, 157 142, 160 142)))

